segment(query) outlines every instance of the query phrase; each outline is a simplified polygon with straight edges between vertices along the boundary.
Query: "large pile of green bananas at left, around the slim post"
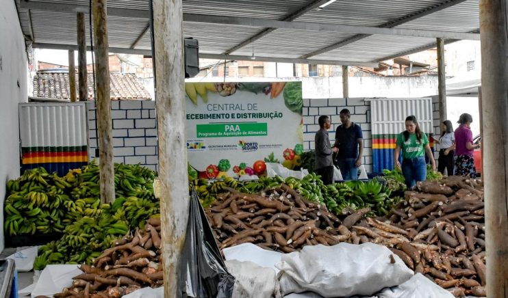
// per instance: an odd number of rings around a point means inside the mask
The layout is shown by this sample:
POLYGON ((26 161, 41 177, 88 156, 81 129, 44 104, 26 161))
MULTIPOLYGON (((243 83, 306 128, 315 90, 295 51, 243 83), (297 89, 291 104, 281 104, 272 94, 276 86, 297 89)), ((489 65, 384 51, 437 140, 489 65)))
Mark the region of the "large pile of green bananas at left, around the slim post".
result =
POLYGON ((42 245, 36 269, 48 264, 90 263, 115 239, 160 214, 153 195, 156 173, 141 165, 115 164, 116 200, 101 204, 99 166, 95 161, 64 177, 43 168, 8 181, 5 232, 9 235, 62 232, 42 245))

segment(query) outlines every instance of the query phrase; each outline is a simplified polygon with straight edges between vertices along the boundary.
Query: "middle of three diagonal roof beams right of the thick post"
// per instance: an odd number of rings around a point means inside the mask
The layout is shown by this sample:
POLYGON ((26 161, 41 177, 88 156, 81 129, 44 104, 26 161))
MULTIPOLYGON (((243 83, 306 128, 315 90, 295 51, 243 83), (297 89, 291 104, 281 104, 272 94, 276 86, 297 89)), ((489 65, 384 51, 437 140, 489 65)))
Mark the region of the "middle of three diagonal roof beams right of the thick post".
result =
MULTIPOLYGON (((388 22, 388 23, 384 23, 384 24, 380 25, 379 27, 380 28, 393 28, 393 27, 396 27, 398 25, 403 25, 404 23, 407 23, 407 22, 410 22, 410 21, 414 21, 417 18, 421 18, 423 16, 428 16, 429 14, 433 14, 434 12, 439 12, 440 10, 444 10, 446 8, 450 8, 453 5, 457 5, 457 4, 465 2, 465 1, 467 1, 467 0, 447 0, 447 1, 444 1, 444 2, 439 3, 437 5, 433 5, 433 6, 429 7, 429 8, 426 8, 424 10, 420 10, 418 12, 415 12, 414 14, 407 14, 406 16, 403 16, 402 18, 399 18, 396 21, 391 21, 391 22, 388 22)), ((319 49, 319 50, 314 51, 312 53, 308 53, 306 55, 303 55, 303 56, 301 56, 301 58, 306 59, 306 58, 309 58, 309 57, 320 55, 322 53, 327 53, 329 51, 332 51, 332 50, 335 50, 335 49, 339 49, 342 46, 346 46, 348 44, 352 44, 353 42, 357 42, 359 40, 367 38, 370 35, 371 34, 360 34, 360 35, 357 35, 357 36, 353 36, 352 38, 348 38, 346 40, 342 40, 341 42, 337 42, 335 44, 332 44, 331 46, 326 46, 325 48, 322 48, 322 49, 319 49)))

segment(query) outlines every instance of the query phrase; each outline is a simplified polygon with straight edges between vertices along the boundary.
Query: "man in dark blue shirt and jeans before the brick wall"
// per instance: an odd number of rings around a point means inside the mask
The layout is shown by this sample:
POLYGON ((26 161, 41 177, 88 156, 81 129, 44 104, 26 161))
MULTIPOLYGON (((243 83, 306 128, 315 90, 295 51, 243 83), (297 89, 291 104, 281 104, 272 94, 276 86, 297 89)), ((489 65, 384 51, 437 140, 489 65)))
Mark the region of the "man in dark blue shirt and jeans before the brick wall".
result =
POLYGON ((361 165, 361 154, 364 151, 364 136, 361 127, 351 122, 348 109, 340 111, 340 125, 335 131, 334 148, 338 148, 335 163, 340 169, 344 180, 356 180, 358 167, 361 165))

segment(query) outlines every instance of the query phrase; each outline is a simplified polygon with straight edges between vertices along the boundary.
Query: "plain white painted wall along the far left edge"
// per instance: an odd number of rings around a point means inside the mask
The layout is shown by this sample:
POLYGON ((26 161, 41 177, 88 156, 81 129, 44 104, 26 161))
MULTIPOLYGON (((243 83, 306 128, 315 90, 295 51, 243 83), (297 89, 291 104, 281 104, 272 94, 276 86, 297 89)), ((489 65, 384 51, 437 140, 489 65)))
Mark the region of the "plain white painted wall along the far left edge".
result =
POLYGON ((5 183, 19 177, 18 103, 28 99, 25 40, 14 1, 1 1, 0 10, 0 251, 3 239, 5 183))

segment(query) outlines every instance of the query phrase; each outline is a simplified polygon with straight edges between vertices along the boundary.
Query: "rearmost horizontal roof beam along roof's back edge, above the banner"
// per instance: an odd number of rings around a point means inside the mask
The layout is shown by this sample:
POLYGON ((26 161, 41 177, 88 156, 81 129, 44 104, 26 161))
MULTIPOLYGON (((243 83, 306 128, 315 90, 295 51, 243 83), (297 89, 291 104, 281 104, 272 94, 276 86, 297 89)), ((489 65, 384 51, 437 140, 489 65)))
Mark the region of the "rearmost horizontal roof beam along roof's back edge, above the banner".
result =
MULTIPOLYGON (((76 50, 75 44, 44 44, 34 42, 32 47, 39 49, 55 49, 55 50, 76 50)), ((90 46, 86 47, 90 51, 90 46)), ((138 54, 138 55, 152 55, 151 50, 141 49, 125 49, 125 48, 109 48, 110 53, 118 54, 138 54)), ((212 53, 199 53, 199 57, 203 59, 218 59, 218 60, 244 60, 251 61, 252 56, 249 55, 223 55, 212 53)), ((323 60, 323 59, 300 59, 300 58, 286 58, 286 57, 259 57, 255 56, 256 61, 261 62, 280 62, 280 63, 301 63, 301 64, 322 64, 322 65, 348 65, 348 66, 365 66, 375 67, 378 66, 377 62, 354 62, 354 61, 340 61, 340 60, 323 60)))

